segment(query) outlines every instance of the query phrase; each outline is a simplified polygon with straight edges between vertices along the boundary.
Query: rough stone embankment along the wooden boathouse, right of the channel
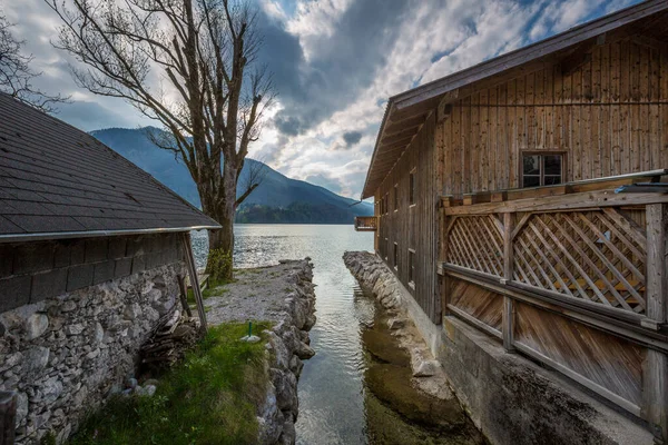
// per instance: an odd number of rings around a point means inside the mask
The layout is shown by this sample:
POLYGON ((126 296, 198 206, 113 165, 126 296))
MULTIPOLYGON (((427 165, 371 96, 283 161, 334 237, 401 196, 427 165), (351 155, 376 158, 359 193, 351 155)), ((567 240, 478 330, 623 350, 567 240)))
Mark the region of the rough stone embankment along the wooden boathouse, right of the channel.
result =
POLYGON ((451 422, 463 419, 460 403, 450 388, 441 364, 434 359, 426 343, 411 320, 401 284, 394 274, 374 254, 346 251, 343 260, 363 289, 373 294, 387 310, 387 327, 399 339, 399 345, 411 356, 411 385, 441 400, 441 408, 450 413, 451 422))

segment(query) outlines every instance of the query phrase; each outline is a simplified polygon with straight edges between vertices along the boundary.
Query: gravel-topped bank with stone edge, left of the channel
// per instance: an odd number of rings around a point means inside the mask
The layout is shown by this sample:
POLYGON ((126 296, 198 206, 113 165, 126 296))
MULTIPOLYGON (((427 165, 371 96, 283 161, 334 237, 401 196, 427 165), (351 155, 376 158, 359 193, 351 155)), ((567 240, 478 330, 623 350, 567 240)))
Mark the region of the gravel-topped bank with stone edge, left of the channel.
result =
POLYGON ((274 323, 265 333, 271 382, 264 405, 258 407, 258 443, 294 444, 302 360, 315 354, 308 346, 308 330, 315 324, 313 264, 311 258, 283 260, 277 266, 239 269, 235 278, 235 283, 219 288, 220 296, 205 300, 208 323, 274 323))

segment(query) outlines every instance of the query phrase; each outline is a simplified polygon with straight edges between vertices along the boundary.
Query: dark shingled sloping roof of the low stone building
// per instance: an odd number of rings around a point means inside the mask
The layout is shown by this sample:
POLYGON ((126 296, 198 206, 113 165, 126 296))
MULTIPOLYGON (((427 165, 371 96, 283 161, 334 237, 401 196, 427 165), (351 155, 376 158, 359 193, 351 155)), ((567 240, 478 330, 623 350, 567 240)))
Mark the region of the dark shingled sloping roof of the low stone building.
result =
POLYGON ((0 93, 0 241, 215 227, 92 136, 0 93))

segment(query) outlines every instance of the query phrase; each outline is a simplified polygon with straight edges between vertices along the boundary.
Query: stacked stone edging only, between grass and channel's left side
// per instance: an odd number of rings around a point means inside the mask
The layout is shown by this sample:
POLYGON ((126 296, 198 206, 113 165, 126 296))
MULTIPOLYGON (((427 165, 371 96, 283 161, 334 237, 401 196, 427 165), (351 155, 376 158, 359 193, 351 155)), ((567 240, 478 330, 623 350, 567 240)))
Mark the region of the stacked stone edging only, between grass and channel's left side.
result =
MULTIPOLYGON (((287 263, 287 261, 282 261, 287 263)), ((269 388, 259 408, 261 444, 294 444, 295 421, 298 414, 297 380, 303 359, 311 358, 308 330, 315 324, 315 291, 311 258, 295 263, 288 281, 292 291, 286 296, 282 320, 265 334, 269 340, 269 388)))

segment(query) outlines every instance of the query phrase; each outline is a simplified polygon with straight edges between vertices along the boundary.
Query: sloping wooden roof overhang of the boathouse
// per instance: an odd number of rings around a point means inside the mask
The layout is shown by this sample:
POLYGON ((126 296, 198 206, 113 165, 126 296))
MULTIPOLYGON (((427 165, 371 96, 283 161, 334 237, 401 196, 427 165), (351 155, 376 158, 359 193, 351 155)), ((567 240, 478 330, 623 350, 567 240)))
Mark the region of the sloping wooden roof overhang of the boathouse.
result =
POLYGON ((667 10, 666 0, 646 1, 391 97, 361 198, 374 195, 426 118, 442 106, 558 61, 577 60, 591 46, 601 43, 600 36, 667 10))

